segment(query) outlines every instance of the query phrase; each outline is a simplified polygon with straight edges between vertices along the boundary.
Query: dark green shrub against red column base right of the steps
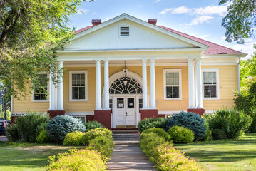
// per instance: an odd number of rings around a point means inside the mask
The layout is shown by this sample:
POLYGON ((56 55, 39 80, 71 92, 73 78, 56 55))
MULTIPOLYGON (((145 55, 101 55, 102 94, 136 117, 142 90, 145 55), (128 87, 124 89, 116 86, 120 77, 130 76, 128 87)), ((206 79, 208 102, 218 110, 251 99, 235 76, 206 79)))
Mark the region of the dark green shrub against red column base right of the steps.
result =
POLYGON ((138 131, 142 133, 143 130, 148 130, 149 128, 165 128, 166 121, 167 121, 166 118, 143 119, 138 123, 138 131))

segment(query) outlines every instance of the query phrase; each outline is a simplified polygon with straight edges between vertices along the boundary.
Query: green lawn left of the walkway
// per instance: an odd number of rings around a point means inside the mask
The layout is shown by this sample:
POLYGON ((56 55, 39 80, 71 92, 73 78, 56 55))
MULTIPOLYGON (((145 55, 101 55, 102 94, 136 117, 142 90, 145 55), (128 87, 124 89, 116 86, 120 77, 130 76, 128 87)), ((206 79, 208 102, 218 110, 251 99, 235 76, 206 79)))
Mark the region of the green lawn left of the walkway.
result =
POLYGON ((39 171, 48 165, 48 156, 73 147, 0 142, 0 170, 39 171))

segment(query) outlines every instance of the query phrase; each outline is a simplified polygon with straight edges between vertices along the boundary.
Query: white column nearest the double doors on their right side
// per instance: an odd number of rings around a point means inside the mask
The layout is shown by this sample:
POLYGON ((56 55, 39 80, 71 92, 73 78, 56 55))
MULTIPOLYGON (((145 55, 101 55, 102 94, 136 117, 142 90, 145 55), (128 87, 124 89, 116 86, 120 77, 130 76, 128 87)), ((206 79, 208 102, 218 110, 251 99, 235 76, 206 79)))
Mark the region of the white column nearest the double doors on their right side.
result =
POLYGON ((142 60, 143 109, 148 109, 147 60, 142 60))

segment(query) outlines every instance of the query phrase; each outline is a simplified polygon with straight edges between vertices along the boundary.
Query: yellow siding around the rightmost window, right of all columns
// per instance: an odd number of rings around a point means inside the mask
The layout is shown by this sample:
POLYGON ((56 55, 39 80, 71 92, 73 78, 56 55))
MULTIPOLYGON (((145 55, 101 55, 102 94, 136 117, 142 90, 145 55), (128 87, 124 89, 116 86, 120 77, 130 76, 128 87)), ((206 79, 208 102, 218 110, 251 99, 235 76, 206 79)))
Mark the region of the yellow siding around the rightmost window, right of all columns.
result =
POLYGON ((237 66, 202 66, 202 68, 219 68, 220 100, 203 100, 205 110, 218 108, 232 108, 234 106, 234 93, 238 90, 237 66))

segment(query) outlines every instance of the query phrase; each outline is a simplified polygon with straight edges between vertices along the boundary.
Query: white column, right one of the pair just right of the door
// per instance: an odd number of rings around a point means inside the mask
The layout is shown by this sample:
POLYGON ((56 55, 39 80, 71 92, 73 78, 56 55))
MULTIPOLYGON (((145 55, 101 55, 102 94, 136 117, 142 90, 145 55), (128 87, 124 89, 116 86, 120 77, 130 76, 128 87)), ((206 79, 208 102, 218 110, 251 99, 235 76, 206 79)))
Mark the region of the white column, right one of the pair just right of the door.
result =
POLYGON ((155 109, 155 60, 150 60, 150 108, 155 109))

